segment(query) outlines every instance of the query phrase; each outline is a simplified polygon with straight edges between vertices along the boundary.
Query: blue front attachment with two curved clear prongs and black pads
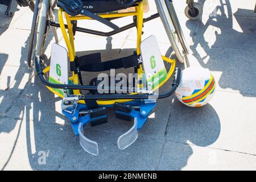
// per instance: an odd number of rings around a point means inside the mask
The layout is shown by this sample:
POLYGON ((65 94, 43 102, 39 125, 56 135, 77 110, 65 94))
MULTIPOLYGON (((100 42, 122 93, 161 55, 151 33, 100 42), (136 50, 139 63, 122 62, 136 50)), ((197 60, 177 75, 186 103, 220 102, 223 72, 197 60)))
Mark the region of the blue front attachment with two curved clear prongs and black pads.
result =
MULTIPOLYGON (((117 145, 119 149, 123 150, 135 142, 138 138, 138 131, 147 121, 148 115, 155 106, 156 102, 154 100, 138 100, 126 104, 108 105, 108 107, 115 108, 117 118, 134 122, 133 126, 118 138, 117 145)), ((79 136, 81 147, 89 154, 98 155, 98 143, 85 137, 84 127, 89 123, 91 126, 96 126, 108 122, 106 107, 88 109, 84 104, 77 104, 72 107, 72 111, 63 108, 63 114, 71 120, 73 131, 76 136, 79 136)))

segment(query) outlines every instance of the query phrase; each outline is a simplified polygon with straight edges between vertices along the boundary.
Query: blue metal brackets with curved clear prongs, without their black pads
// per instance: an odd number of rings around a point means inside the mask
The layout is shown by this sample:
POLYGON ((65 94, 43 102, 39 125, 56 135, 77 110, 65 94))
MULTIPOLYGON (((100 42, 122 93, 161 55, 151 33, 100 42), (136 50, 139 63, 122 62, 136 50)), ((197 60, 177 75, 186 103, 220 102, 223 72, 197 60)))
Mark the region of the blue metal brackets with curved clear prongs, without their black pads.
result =
MULTIPOLYGON (((130 113, 125 111, 115 110, 115 113, 119 115, 125 115, 130 118, 134 118, 134 125, 131 127, 129 131, 122 134, 118 140, 118 147, 123 150, 126 147, 130 146, 130 144, 134 143, 138 138, 138 131, 142 129, 144 123, 146 123, 148 119, 148 115, 154 110, 156 106, 156 100, 135 100, 131 102, 126 102, 126 105, 131 106, 130 113)), ((114 105, 102 106, 102 107, 113 107, 114 105)), ((104 108, 103 108, 104 109, 104 108)), ((106 114, 90 117, 89 112, 83 114, 82 116, 79 114, 80 111, 88 111, 88 107, 84 104, 77 104, 74 107, 68 107, 62 111, 62 113, 71 121, 71 126, 76 136, 79 136, 80 144, 85 151, 89 152, 92 155, 98 155, 98 144, 94 142, 84 135, 83 127, 91 122, 100 121, 100 119, 106 119, 108 116, 106 114)))

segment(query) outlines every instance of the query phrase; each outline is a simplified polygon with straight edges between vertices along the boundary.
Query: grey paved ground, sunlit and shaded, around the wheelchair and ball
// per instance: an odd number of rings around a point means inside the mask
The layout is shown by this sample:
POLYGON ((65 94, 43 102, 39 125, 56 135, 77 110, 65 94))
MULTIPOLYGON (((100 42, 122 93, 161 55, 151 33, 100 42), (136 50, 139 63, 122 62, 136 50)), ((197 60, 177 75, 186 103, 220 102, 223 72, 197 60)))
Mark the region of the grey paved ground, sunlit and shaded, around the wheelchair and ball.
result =
MULTIPOLYGON (((150 2, 150 13, 154 13, 150 2)), ((191 48, 188 64, 209 68, 216 78, 213 100, 197 109, 180 104, 175 96, 159 100, 138 140, 123 151, 118 150, 117 138, 130 124, 115 119, 110 110, 108 124, 86 129, 99 144, 98 156, 82 150, 61 114, 60 98, 26 68, 31 11, 17 7, 14 17, 8 18, 0 5, 0 169, 255 170, 255 1, 200 3, 204 4, 202 21, 185 18, 185 1, 175 1, 175 7, 191 48), (40 164, 44 152, 46 164, 40 164)), ((155 34, 162 54, 170 56, 160 19, 144 24, 143 31, 143 39, 155 34)), ((76 48, 101 50, 108 59, 128 55, 135 39, 135 29, 112 40, 77 34, 76 48)))

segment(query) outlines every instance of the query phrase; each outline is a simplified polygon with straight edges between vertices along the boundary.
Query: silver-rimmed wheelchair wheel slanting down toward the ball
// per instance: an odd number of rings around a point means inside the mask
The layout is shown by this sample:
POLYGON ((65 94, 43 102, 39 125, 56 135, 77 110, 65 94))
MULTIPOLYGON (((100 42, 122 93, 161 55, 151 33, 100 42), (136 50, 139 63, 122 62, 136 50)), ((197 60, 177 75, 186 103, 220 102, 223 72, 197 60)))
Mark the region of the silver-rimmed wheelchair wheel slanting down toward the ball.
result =
POLYGON ((184 63, 188 48, 174 6, 168 0, 155 0, 155 3, 175 55, 180 63, 184 63))

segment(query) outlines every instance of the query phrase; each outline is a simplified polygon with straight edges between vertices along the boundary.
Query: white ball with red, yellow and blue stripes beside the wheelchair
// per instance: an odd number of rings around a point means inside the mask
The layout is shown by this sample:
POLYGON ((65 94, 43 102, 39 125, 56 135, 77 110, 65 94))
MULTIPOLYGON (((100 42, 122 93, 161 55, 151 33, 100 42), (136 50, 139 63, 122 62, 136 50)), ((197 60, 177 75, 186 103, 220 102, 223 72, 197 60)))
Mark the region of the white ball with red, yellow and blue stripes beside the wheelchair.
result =
POLYGON ((175 94, 183 104, 200 107, 212 99, 215 90, 215 80, 209 69, 189 67, 182 71, 180 84, 175 94))

